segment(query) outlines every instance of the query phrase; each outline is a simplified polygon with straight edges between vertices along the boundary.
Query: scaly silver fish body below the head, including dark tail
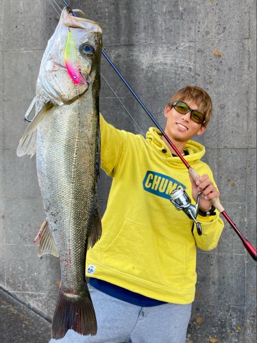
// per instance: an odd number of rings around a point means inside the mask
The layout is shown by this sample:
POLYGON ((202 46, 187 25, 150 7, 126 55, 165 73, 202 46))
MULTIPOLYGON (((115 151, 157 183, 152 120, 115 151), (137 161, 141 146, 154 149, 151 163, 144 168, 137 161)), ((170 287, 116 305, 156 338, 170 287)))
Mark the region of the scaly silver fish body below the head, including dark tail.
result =
POLYGON ((53 338, 62 338, 68 329, 84 335, 97 330, 85 261, 97 206, 98 130, 99 112, 86 97, 58 107, 38 126, 38 182, 61 268, 53 338))

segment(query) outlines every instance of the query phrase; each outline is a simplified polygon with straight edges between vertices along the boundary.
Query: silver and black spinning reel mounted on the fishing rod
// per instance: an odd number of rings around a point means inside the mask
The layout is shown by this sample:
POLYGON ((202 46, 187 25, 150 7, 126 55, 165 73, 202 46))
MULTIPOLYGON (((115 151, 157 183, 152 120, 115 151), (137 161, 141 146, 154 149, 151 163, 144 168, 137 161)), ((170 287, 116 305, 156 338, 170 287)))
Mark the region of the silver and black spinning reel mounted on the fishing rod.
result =
POLYGON ((183 210, 184 213, 188 216, 188 218, 192 219, 197 228, 197 233, 199 236, 202 234, 201 230, 201 224, 196 221, 196 217, 199 210, 199 196, 204 191, 200 191, 197 195, 197 200, 195 206, 191 204, 191 198, 189 198, 188 194, 186 193, 186 190, 182 187, 178 187, 176 189, 173 189, 171 192, 171 202, 175 206, 175 208, 180 211, 183 210))

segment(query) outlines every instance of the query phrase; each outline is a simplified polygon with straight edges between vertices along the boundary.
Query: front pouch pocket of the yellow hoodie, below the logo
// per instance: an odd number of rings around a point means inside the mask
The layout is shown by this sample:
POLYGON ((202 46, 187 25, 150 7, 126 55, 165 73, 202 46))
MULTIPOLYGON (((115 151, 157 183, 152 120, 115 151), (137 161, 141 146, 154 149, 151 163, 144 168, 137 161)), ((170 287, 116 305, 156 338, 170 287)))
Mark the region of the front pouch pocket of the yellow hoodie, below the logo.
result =
POLYGON ((101 256, 101 264, 119 274, 174 289, 186 281, 185 260, 185 243, 127 221, 101 256))

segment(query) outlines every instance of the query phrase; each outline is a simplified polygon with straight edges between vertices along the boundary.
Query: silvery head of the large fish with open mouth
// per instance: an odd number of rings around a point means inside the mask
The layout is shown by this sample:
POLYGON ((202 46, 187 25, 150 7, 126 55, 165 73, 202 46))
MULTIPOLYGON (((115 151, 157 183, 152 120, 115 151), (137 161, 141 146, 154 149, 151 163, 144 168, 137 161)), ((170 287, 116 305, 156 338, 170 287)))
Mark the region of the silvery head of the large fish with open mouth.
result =
MULTIPOLYGON (((84 16, 79 10, 74 12, 84 16)), ((37 88, 41 88, 53 104, 62 105, 85 93, 90 86, 100 86, 101 47, 101 25, 73 16, 69 8, 64 8, 42 57, 37 88), (73 37, 73 58, 68 54, 67 60, 69 36, 73 37)))

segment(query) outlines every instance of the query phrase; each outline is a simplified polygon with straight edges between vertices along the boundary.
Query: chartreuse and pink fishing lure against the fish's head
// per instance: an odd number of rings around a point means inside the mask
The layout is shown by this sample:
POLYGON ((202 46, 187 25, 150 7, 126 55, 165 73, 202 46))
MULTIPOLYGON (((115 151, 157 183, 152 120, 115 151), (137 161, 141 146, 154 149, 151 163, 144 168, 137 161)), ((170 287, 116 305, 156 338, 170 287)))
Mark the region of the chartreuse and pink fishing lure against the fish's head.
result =
POLYGON ((86 84, 86 80, 84 80, 79 71, 75 39, 70 29, 68 32, 68 40, 65 49, 65 64, 67 71, 75 84, 79 84, 79 82, 86 84))

